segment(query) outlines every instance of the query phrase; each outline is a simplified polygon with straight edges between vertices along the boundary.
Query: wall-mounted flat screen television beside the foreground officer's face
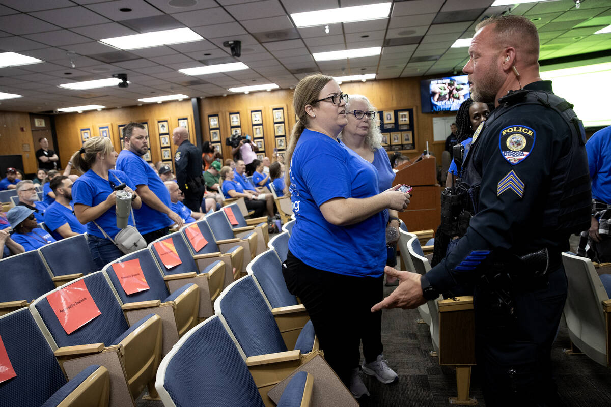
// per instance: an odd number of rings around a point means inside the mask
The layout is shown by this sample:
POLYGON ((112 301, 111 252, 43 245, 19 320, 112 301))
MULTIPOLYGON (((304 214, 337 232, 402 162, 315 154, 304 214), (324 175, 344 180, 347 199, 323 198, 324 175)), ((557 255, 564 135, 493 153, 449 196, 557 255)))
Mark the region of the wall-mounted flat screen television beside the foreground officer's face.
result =
POLYGON ((469 96, 467 75, 420 81, 422 113, 455 112, 469 96))

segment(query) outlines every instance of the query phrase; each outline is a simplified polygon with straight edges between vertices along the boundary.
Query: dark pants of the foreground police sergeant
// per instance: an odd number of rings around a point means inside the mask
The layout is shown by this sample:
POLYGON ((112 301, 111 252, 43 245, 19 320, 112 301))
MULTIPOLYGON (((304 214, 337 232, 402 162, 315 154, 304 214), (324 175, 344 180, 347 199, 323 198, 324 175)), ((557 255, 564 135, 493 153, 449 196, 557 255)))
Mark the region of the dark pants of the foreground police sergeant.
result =
POLYGON ((558 405, 550 358, 566 287, 561 264, 549 286, 516 292, 515 319, 492 311, 489 290, 476 287, 475 349, 486 406, 558 405))

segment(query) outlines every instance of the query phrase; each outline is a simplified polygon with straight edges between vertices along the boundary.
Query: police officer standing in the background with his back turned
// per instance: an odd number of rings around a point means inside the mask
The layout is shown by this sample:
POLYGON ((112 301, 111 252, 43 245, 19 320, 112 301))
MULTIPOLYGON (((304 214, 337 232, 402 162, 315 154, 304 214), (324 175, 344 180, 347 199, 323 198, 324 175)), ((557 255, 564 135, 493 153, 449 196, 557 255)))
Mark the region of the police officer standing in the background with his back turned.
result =
POLYGON ((185 195, 183 203, 193 212, 200 212, 204 193, 202 178, 202 155, 199 148, 189 142, 189 132, 183 127, 172 131, 172 141, 177 145, 174 163, 176 181, 185 195))

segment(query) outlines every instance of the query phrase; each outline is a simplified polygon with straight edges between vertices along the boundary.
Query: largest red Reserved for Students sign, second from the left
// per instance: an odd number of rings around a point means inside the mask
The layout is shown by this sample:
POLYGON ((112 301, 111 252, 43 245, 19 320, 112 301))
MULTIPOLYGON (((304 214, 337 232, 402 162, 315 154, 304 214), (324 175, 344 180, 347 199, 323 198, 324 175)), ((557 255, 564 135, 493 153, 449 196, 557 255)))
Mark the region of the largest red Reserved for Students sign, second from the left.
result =
POLYGON ((52 292, 46 299, 68 335, 101 315, 83 280, 52 292))

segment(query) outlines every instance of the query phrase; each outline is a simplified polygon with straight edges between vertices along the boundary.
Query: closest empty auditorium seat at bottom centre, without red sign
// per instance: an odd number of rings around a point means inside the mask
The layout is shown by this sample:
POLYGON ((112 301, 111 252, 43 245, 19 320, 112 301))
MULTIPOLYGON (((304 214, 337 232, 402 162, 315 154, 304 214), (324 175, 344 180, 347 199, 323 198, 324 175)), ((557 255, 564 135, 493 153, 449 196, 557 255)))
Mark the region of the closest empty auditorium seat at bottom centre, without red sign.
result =
MULTIPOLYGON (((214 315, 197 325, 161 361, 155 387, 169 406, 265 407, 235 337, 214 315)), ((277 407, 309 406, 313 378, 295 375, 277 407)), ((265 395, 266 397, 266 395, 265 395)))

